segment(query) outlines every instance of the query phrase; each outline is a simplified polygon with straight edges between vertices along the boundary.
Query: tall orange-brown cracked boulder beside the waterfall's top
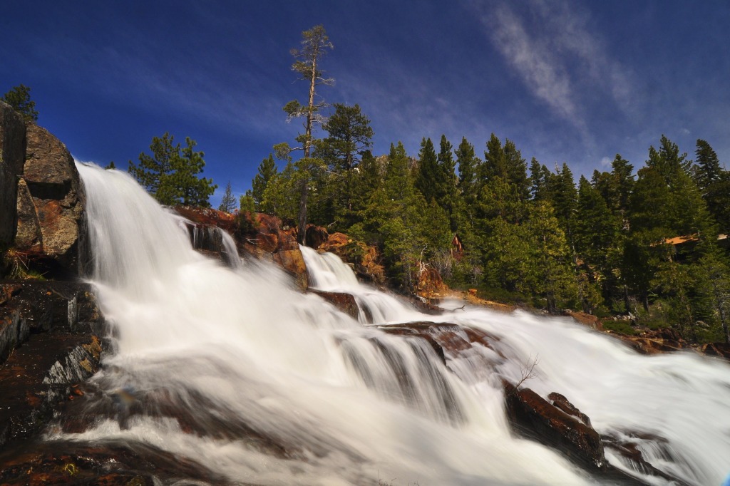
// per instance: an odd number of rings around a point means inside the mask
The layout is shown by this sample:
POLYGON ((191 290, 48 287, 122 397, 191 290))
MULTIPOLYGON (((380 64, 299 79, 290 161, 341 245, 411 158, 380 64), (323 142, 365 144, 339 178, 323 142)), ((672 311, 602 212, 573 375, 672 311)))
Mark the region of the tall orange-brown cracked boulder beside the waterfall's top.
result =
POLYGON ((79 173, 55 136, 34 123, 26 128, 26 160, 15 201, 15 249, 42 274, 75 275, 85 260, 79 254, 86 231, 79 173))

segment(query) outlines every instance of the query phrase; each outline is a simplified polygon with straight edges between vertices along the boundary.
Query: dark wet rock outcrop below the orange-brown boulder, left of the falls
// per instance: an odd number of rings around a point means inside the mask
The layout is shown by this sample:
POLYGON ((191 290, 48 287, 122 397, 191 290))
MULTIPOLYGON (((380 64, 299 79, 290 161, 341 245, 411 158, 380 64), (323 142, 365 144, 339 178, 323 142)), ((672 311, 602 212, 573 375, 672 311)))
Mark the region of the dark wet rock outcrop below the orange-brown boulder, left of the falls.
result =
POLYGON ((0 282, 0 450, 78 396, 99 370, 103 332, 88 284, 0 282))

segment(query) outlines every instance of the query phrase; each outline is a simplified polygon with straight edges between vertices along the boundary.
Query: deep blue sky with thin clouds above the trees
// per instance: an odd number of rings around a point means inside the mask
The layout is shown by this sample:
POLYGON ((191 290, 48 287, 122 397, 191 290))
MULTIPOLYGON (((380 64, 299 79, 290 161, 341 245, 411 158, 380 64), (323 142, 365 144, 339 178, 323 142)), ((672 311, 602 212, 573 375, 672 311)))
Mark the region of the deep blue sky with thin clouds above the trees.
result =
POLYGON ((576 174, 642 166, 662 134, 730 166, 727 1, 7 1, 0 93, 31 87, 38 123, 83 161, 121 168, 153 136, 190 136, 206 177, 250 188, 278 142, 301 130, 289 50, 323 24, 334 50, 320 93, 359 104, 373 152, 423 136, 493 132, 529 161, 576 174))

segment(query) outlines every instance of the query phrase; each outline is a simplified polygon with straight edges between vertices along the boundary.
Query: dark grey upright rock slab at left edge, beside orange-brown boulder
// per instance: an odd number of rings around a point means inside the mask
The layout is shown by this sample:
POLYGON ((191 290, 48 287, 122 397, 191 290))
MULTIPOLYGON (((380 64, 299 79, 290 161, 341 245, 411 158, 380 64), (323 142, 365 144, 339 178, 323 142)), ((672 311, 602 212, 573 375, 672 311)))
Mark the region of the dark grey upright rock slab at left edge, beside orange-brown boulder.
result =
POLYGON ((23 172, 26 126, 23 118, 0 101, 0 248, 15 237, 15 198, 18 175, 23 172))

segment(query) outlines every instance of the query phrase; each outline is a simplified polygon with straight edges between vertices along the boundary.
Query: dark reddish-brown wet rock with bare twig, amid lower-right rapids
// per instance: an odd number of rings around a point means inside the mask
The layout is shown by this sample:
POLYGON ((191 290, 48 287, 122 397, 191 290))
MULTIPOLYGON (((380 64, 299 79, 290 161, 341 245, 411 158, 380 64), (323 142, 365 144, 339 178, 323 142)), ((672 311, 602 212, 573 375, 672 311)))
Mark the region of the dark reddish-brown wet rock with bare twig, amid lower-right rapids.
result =
MULTIPOLYGON (((515 431, 563 452, 589 470, 607 468, 601 436, 580 417, 567 414, 529 388, 518 390, 506 381, 503 385, 507 416, 515 431)), ((575 408, 565 397, 556 396, 575 408)))

